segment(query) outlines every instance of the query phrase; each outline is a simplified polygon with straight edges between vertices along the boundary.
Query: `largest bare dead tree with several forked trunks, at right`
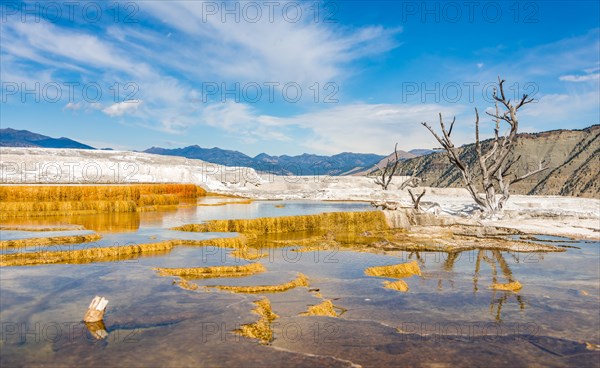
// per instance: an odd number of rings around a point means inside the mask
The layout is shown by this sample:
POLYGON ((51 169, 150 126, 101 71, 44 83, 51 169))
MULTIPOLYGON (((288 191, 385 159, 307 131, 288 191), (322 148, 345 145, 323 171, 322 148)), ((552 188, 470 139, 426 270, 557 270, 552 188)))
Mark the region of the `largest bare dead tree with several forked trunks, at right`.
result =
POLYGON ((510 99, 506 99, 504 94, 504 80, 498 78, 498 87, 500 90, 500 95, 498 95, 498 89, 494 89, 496 111, 495 113, 487 113, 494 118, 495 128, 494 138, 492 139, 491 144, 487 147, 486 152, 484 152, 479 140, 479 112, 477 111, 477 108, 475 108, 475 151, 477 155, 477 163, 481 169, 481 187, 483 188, 485 196, 481 196, 479 194, 479 191, 475 186, 471 167, 469 167, 469 165, 460 158, 458 148, 454 146, 452 140, 450 139, 456 117, 452 120, 450 129, 446 130, 446 126, 442 119, 442 114, 439 114, 440 127, 443 134, 441 137, 429 124, 422 123, 442 145, 450 162, 460 171, 465 188, 469 191, 469 194, 483 212, 484 217, 492 217, 496 214, 502 213, 504 205, 510 197, 509 189, 512 184, 527 179, 528 177, 548 168, 544 166, 542 162, 540 162, 538 169, 530 171, 525 175, 517 176, 509 173, 512 165, 519 159, 517 158, 508 164, 505 163, 509 154, 514 150, 515 147, 517 131, 519 128, 517 112, 521 107, 531 103, 533 99, 529 98, 529 96, 525 94, 515 105, 510 101, 510 99), (500 112, 500 109, 498 108, 499 103, 503 106, 503 112, 500 112), (508 123, 510 128, 504 136, 500 136, 500 123, 502 121, 508 123), (497 192, 501 193, 499 198, 496 195, 497 192))

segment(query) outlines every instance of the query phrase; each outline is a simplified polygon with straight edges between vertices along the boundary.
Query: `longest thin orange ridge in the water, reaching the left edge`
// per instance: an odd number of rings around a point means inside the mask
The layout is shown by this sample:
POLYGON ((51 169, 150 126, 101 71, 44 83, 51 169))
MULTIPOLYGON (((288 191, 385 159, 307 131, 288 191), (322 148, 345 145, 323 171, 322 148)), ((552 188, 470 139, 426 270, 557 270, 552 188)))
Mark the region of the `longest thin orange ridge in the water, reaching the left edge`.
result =
POLYGON ((0 254, 0 266, 34 266, 56 263, 93 263, 133 259, 143 255, 158 255, 170 252, 176 246, 215 246, 238 248, 246 244, 244 238, 218 238, 206 240, 166 240, 156 243, 124 245, 114 247, 78 249, 56 252, 27 252, 0 254))

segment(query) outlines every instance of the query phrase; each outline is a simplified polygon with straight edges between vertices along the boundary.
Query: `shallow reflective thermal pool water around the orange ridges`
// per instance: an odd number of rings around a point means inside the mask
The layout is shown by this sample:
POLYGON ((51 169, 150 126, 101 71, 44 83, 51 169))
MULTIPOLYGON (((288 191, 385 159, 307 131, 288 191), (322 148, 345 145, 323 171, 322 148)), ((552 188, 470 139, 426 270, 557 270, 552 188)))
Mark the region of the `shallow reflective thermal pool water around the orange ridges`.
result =
MULTIPOLYGON (((228 201, 233 203, 112 219, 48 217, 31 223, 84 225, 103 235, 99 246, 109 246, 184 236, 233 236, 168 230, 210 219, 370 210, 359 202, 228 201)), ((207 198, 202 203, 219 200, 207 198)), ((3 240, 41 236, 16 230, 0 235, 3 240)), ((292 245, 264 249, 265 257, 248 261, 234 256, 231 249, 178 246, 165 255, 123 261, 2 267, 0 364, 596 367, 600 362, 600 244, 544 240, 569 247, 562 253, 474 250, 449 256, 369 253, 359 248, 296 252, 298 247, 292 245), (422 275, 404 279, 408 292, 382 286, 384 280, 393 279, 364 273, 368 267, 413 260, 422 275), (153 270, 252 262, 260 262, 266 271, 247 277, 191 279, 197 290, 180 288, 173 284, 176 277, 159 276, 153 270), (298 273, 308 277, 308 288, 266 294, 203 288, 278 284, 298 273), (519 292, 489 288, 508 277, 519 280, 523 288, 519 292), (95 327, 81 322, 95 295, 110 301, 105 339, 96 339, 95 327), (279 316, 272 323, 274 339, 266 345, 232 333, 259 318, 252 311, 253 302, 263 296, 279 316), (300 315, 324 299, 333 302, 338 317, 300 315)))

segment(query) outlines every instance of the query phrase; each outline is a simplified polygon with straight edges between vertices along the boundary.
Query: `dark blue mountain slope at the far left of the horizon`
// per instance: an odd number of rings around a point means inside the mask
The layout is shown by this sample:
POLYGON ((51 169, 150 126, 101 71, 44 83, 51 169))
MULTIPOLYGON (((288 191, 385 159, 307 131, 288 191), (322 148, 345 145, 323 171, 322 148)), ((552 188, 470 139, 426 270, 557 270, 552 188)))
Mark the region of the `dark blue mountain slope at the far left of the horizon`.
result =
POLYGON ((0 129, 0 147, 42 147, 95 149, 69 138, 51 138, 28 130, 0 129))

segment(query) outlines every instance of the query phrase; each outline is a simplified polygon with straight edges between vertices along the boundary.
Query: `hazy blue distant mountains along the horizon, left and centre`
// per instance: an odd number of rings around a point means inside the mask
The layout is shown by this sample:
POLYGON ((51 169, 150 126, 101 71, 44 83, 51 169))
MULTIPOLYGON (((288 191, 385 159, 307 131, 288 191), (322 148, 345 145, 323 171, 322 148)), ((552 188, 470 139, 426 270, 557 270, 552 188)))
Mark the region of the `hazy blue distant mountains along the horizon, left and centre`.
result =
MULTIPOLYGON (((4 147, 44 147, 44 148, 80 148, 94 147, 68 138, 51 138, 27 130, 11 128, 0 129, 0 146, 4 147)), ((194 145, 184 148, 167 149, 152 147, 144 152, 166 156, 181 156, 226 166, 245 166, 258 171, 277 175, 350 175, 360 174, 372 169, 377 163, 386 160, 386 156, 372 153, 344 152, 333 156, 302 154, 298 156, 271 156, 261 153, 250 157, 238 151, 221 148, 202 148, 194 145)), ((402 159, 413 158, 427 150, 399 151, 402 159)))

